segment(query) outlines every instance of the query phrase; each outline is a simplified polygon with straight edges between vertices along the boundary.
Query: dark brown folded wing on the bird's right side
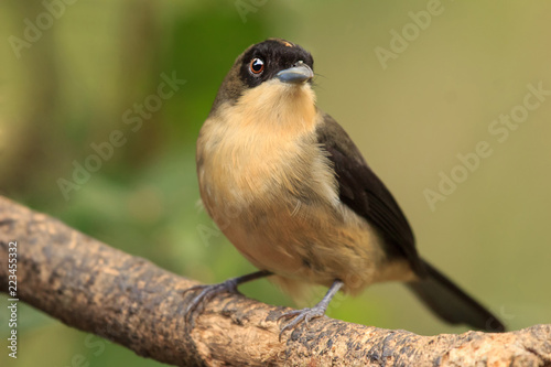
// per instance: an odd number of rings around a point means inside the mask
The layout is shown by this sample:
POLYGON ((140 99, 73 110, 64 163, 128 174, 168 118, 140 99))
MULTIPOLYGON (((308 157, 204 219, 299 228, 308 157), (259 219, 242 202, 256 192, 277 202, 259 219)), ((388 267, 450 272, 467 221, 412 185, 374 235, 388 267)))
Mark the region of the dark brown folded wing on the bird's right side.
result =
POLYGON ((341 202, 374 225, 389 250, 404 256, 417 273, 424 274, 413 233, 392 194, 369 169, 346 131, 331 116, 323 118, 317 141, 334 164, 341 202))

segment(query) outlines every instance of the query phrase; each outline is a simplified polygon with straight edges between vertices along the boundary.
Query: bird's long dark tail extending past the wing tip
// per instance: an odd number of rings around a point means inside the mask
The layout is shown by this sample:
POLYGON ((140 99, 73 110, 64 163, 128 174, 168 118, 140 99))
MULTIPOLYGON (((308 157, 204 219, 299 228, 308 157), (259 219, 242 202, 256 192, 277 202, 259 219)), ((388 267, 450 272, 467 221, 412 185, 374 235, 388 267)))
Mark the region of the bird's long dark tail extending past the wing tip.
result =
POLYGON ((499 333, 504 324, 433 266, 424 262, 426 277, 407 283, 434 313, 451 324, 468 324, 477 330, 499 333))

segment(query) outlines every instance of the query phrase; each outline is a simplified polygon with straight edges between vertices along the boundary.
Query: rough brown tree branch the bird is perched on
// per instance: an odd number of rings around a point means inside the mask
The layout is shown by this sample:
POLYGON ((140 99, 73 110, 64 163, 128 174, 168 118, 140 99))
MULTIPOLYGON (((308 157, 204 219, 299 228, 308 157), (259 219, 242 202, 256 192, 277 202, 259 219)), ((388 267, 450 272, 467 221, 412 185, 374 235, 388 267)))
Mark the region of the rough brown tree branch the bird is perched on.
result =
POLYGON ((287 309, 219 295, 188 330, 183 311, 196 284, 0 197, 0 290, 9 242, 18 242, 18 296, 65 324, 140 356, 213 366, 551 366, 551 325, 504 334, 420 336, 328 317, 278 341, 287 309))

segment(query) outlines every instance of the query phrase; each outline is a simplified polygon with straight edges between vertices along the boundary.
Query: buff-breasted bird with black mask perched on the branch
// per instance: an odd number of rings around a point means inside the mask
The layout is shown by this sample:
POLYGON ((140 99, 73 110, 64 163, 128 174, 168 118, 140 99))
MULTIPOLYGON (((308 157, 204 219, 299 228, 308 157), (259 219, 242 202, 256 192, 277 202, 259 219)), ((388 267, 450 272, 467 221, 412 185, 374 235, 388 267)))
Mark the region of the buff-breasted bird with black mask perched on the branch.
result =
POLYGON ((280 316, 281 338, 324 316, 338 291, 399 281, 451 324, 505 331, 419 255, 390 191, 317 107, 313 64, 302 46, 268 39, 245 50, 222 83, 197 138, 198 187, 208 215, 258 271, 188 289, 196 293, 185 314, 264 277, 298 298, 327 287, 314 306, 280 316))

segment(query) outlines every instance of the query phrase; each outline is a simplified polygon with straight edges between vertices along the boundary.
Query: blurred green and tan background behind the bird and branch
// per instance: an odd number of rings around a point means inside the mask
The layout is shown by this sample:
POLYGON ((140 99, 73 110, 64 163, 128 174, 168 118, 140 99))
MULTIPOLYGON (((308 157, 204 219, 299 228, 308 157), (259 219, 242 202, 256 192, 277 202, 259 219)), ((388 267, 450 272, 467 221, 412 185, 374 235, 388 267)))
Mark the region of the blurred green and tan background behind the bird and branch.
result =
MULTIPOLYGON (((312 52, 318 106, 395 193, 424 257, 510 328, 550 323, 551 98, 504 143, 488 126, 522 104, 528 84, 551 89, 551 3, 442 1, 383 69, 376 47, 389 50, 390 32, 431 3, 83 0, 46 26, 43 2, 2 1, 0 194, 179 274, 217 282, 251 271, 223 236, 201 236, 213 225, 196 205, 194 145, 235 57, 280 36, 312 52), (24 39, 25 19, 45 30, 17 51, 10 36, 24 39), (186 83, 132 131, 123 114, 156 93, 163 73, 186 83), (58 179, 72 180, 74 162, 114 130, 127 142, 66 199, 58 179), (479 141, 493 155, 431 211, 423 191, 479 141)), ((244 291, 292 305, 267 281, 244 291)), ((14 361, 0 299, 2 366, 159 365, 23 304, 14 361)), ((400 284, 339 298, 329 316, 425 335, 466 330, 441 323, 400 284)))

